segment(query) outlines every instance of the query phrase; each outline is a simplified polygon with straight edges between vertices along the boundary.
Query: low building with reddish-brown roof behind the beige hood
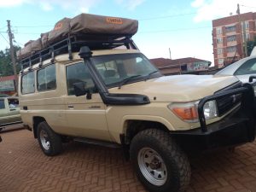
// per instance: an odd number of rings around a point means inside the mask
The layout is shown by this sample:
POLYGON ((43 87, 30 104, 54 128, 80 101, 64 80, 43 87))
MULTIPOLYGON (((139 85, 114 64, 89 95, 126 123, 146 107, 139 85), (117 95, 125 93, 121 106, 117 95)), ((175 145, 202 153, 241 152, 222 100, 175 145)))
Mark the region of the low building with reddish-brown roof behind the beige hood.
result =
POLYGON ((186 57, 177 60, 155 58, 150 60, 154 63, 155 67, 160 69, 160 72, 164 75, 172 74, 200 74, 206 72, 211 65, 210 61, 205 61, 193 57, 186 57))

